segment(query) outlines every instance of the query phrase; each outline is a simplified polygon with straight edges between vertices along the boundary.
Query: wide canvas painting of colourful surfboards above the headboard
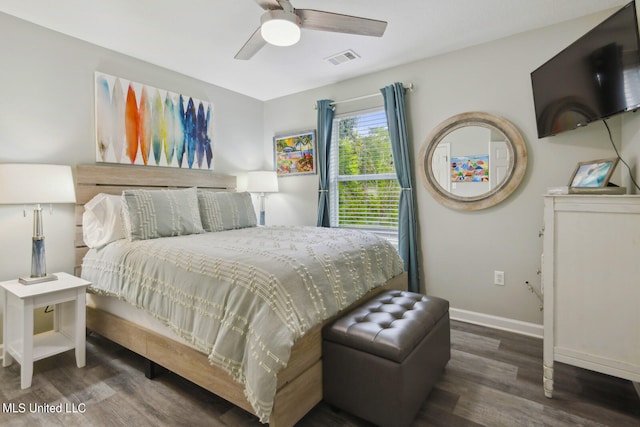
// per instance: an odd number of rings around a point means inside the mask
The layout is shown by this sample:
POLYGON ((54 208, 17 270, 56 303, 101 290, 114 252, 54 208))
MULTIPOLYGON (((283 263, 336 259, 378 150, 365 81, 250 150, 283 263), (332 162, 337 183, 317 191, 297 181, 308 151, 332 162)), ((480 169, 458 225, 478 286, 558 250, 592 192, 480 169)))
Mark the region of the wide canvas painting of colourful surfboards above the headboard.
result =
POLYGON ((211 169, 211 103, 95 73, 96 161, 211 169))

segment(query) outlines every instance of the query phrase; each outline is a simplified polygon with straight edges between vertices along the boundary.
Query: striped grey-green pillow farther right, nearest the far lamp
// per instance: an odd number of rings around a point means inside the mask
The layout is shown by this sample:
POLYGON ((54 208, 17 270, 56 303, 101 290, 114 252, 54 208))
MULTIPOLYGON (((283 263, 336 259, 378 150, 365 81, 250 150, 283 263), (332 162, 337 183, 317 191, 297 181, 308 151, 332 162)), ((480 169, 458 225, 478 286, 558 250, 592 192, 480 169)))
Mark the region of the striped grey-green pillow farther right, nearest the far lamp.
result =
POLYGON ((206 231, 223 231, 255 227, 256 211, 247 192, 198 190, 200 217, 206 231))

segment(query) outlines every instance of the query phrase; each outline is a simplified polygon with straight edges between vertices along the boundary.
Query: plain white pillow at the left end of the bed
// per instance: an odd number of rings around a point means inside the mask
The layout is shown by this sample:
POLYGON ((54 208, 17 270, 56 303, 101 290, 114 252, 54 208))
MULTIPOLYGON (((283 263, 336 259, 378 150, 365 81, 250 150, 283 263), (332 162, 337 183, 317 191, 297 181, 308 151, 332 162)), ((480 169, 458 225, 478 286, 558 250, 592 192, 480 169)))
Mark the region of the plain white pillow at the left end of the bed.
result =
POLYGON ((82 238, 90 248, 124 239, 122 197, 100 193, 84 205, 82 238))

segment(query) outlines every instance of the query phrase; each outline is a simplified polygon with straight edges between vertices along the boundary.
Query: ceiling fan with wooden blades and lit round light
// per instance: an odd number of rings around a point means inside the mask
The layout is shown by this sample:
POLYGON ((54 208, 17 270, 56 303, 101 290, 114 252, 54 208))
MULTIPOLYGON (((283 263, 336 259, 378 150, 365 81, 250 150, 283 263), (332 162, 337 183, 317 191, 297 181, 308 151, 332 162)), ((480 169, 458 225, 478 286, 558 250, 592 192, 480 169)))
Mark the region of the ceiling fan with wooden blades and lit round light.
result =
POLYGON ((291 46, 300 40, 300 29, 382 37, 387 23, 375 19, 313 9, 295 9, 289 0, 255 0, 266 12, 261 25, 242 46, 235 59, 250 59, 265 44, 291 46))

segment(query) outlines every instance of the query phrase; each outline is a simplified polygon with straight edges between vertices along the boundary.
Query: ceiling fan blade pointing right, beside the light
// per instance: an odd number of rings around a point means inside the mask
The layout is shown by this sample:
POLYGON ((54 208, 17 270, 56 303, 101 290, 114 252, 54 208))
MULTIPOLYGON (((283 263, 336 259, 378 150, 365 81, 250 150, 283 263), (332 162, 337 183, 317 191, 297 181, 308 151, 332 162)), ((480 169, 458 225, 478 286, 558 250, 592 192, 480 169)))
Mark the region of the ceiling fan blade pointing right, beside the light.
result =
POLYGON ((302 21, 302 28, 309 30, 382 37, 384 31, 387 29, 386 21, 360 18, 358 16, 342 15, 313 9, 295 9, 295 13, 302 21))

